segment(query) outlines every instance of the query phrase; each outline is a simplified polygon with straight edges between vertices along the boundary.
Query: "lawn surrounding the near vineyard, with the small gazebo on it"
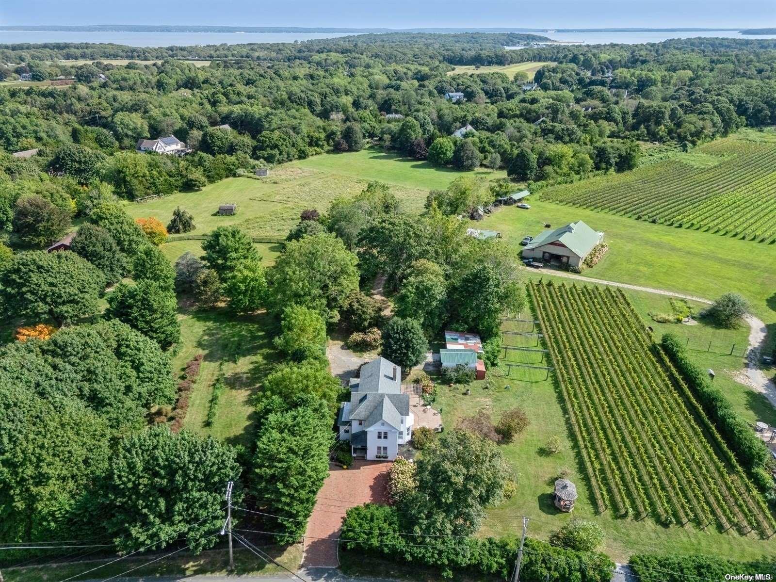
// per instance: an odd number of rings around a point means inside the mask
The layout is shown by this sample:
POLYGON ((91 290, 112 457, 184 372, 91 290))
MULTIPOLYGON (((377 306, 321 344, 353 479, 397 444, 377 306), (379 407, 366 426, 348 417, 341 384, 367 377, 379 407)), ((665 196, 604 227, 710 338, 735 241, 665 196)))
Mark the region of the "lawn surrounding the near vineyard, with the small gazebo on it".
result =
MULTIPOLYGON (((566 282, 570 284, 570 282, 566 282)), ((699 365, 715 369, 715 383, 725 391, 733 402, 736 411, 747 420, 755 417, 772 423, 776 421, 776 411, 767 400, 747 389, 733 379, 733 374, 740 369, 743 360, 739 356, 726 355, 724 346, 746 338, 747 331, 719 330, 701 323, 695 326, 683 324, 657 324, 649 316, 653 312, 670 310, 668 298, 652 293, 626 291, 634 307, 647 324, 654 329, 654 337, 659 340, 665 331, 674 331, 691 341, 691 345, 708 345, 712 341, 714 351, 702 352, 692 350, 691 357, 699 365), (719 347, 718 347, 719 346, 719 347)), ((700 304, 693 304, 700 307, 700 304)), ((523 314, 525 317, 526 314, 523 314)), ((528 317, 526 317, 528 318, 528 317)), ((530 324, 507 323, 505 329, 512 331, 531 331, 530 324), (507 327, 510 326, 510 327, 507 327)), ((535 345, 535 338, 507 336, 509 345, 529 347, 535 345)), ((729 349, 727 350, 729 352, 729 349)), ((509 352, 509 360, 514 362, 539 362, 539 354, 535 352, 509 352)), ((442 416, 445 426, 453 428, 459 417, 469 416, 484 408, 497 419, 501 411, 519 406, 528 414, 531 424, 514 443, 501 445, 501 450, 514 469, 518 481, 518 493, 511 500, 497 508, 488 511, 488 518, 483 523, 480 535, 507 535, 517 532, 522 515, 531 519, 528 525, 528 535, 547 539, 550 532, 559 528, 571 517, 589 518, 598 522, 606 533, 605 552, 617 561, 624 561, 627 556, 638 552, 676 552, 688 555, 712 553, 735 559, 751 559, 763 556, 772 546, 756 537, 742 537, 737 534, 723 534, 717 531, 701 532, 692 526, 680 528, 672 526, 665 528, 652 518, 643 521, 614 518, 611 513, 594 515, 593 504, 587 488, 584 470, 578 464, 577 452, 572 435, 563 413, 561 400, 556 392, 553 376, 545 379, 546 372, 529 369, 513 369, 509 377, 502 377, 506 372, 497 370, 488 374, 493 387, 485 388, 486 382, 476 382, 472 385, 472 393, 463 395, 462 387, 439 386, 437 404, 442 406, 442 416), (509 386, 509 388, 505 388, 509 386), (551 435, 558 435, 563 442, 561 452, 547 456, 542 452, 551 435), (552 481, 559 469, 570 469, 570 479, 577 484, 580 499, 572 515, 559 514, 552 504, 552 481)))

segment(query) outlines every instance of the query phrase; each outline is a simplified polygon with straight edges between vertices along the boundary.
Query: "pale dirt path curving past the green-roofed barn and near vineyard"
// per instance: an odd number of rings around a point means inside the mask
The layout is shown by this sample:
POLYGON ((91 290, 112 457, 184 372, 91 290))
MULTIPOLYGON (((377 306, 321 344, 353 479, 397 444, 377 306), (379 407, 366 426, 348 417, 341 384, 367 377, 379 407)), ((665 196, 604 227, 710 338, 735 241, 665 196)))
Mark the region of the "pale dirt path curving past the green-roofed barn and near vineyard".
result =
MULTIPOLYGON (((628 283, 619 283, 615 281, 604 281, 603 279, 591 279, 590 277, 583 277, 581 275, 563 271, 554 271, 549 268, 538 268, 536 270, 542 273, 542 275, 566 277, 567 279, 577 279, 578 281, 596 283, 598 285, 609 285, 613 287, 622 287, 622 289, 632 289, 634 291, 645 291, 646 293, 657 293, 658 295, 678 297, 680 299, 698 301, 698 303, 705 303, 706 305, 712 304, 711 300, 702 297, 674 293, 674 291, 667 291, 665 289, 629 285, 628 283)), ((764 397, 776 407, 776 384, 765 375, 765 372, 762 369, 757 367, 757 362, 760 361, 760 351, 765 344, 765 336, 767 334, 765 324, 763 320, 760 320, 751 314, 744 316, 744 320, 746 320, 747 325, 749 325, 749 346, 747 349, 747 367, 743 369, 740 379, 755 392, 763 394, 764 397)))

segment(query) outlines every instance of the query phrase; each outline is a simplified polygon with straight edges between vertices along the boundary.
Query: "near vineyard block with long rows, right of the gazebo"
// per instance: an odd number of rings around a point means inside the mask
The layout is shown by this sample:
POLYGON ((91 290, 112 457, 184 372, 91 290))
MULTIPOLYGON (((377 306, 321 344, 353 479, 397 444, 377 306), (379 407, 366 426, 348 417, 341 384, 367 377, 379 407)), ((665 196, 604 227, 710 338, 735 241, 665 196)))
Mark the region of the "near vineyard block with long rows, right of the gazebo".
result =
POLYGON ((598 511, 611 499, 618 515, 773 535, 764 500, 622 290, 529 289, 598 511))

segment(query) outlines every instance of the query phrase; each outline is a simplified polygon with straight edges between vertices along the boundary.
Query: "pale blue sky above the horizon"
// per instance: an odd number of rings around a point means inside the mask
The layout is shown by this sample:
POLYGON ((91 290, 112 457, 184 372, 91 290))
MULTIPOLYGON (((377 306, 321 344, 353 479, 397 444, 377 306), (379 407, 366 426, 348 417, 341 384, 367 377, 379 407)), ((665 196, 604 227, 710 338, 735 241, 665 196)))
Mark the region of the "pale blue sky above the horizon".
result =
POLYGON ((776 0, 0 0, 0 25, 776 26, 776 0))

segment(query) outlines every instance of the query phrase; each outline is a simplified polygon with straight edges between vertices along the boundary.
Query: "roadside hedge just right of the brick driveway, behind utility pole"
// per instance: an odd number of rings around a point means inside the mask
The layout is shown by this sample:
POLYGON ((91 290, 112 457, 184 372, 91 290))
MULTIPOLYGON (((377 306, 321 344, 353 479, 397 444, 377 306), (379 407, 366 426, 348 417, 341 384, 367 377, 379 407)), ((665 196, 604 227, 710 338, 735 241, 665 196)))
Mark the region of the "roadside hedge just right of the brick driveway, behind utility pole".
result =
MULTIPOLYGON (((396 508, 365 504, 348 509, 341 532, 341 549, 359 556, 375 553, 389 558, 438 567, 445 577, 469 573, 507 580, 518 554, 514 538, 439 538, 402 535, 396 508)), ((615 563, 601 553, 580 553, 526 539, 520 580, 522 582, 609 582, 615 563)))

